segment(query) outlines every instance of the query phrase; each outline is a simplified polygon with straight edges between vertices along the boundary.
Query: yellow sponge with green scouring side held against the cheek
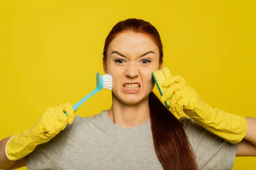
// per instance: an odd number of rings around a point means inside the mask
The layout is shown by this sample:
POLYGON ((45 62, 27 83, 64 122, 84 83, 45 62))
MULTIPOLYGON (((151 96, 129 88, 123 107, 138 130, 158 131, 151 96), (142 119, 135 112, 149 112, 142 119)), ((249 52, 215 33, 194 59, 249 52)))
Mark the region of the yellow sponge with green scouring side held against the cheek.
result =
MULTIPOLYGON (((172 77, 171 71, 169 71, 169 68, 164 67, 162 70, 154 71, 152 73, 152 76, 154 78, 154 81, 157 85, 157 88, 161 96, 163 96, 163 93, 168 89, 168 87, 163 87, 162 84, 166 79, 168 79, 169 77, 172 77)), ((170 103, 170 99, 165 102, 165 105, 167 108, 170 108, 169 103, 170 103)))

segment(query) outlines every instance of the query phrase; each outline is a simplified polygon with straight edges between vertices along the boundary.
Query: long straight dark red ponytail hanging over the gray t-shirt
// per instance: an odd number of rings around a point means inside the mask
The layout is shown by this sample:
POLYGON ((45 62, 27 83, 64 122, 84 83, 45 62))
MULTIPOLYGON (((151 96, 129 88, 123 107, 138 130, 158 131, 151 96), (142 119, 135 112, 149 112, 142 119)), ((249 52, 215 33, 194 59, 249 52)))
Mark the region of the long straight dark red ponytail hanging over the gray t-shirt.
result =
POLYGON ((198 170, 195 154, 180 121, 151 92, 151 130, 158 159, 165 170, 198 170))

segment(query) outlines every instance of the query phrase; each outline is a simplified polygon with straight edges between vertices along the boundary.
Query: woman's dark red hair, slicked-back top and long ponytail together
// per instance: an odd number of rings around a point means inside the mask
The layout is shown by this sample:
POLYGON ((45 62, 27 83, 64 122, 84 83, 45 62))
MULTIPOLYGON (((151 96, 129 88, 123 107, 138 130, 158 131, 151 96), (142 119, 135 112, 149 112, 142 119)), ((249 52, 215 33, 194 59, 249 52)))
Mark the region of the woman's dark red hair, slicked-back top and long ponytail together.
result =
MULTIPOLYGON (((157 29, 149 22, 132 18, 117 23, 108 34, 103 51, 104 64, 107 60, 109 44, 122 32, 134 32, 150 36, 159 48, 159 63, 163 62, 163 45, 157 29)), ((180 121, 153 92, 149 94, 148 104, 154 147, 164 169, 198 170, 195 154, 180 121)))

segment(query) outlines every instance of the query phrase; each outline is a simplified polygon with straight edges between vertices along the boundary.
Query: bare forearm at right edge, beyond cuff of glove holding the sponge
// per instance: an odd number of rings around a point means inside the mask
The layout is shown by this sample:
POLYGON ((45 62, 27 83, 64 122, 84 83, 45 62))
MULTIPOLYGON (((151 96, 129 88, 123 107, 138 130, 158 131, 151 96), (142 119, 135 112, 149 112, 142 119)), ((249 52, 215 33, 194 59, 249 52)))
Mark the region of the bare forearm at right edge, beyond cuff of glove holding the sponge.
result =
POLYGON ((256 146, 256 118, 246 117, 247 120, 247 133, 244 136, 244 139, 250 141, 256 146))

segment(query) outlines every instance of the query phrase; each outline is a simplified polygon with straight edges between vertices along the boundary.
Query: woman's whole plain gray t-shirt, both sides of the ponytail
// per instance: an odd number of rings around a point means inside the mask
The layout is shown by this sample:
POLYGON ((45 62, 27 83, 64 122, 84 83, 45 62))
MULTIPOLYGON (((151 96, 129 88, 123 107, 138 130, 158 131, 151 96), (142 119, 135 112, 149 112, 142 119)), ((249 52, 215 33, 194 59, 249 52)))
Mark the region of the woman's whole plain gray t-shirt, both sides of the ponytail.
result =
MULTIPOLYGON (((230 144, 192 119, 180 118, 200 170, 231 170, 238 144, 230 144)), ((186 160, 183 160, 186 161, 186 160)), ((28 170, 163 170, 154 149, 150 119, 140 126, 116 125, 102 111, 76 116, 71 125, 26 156, 28 170)))

